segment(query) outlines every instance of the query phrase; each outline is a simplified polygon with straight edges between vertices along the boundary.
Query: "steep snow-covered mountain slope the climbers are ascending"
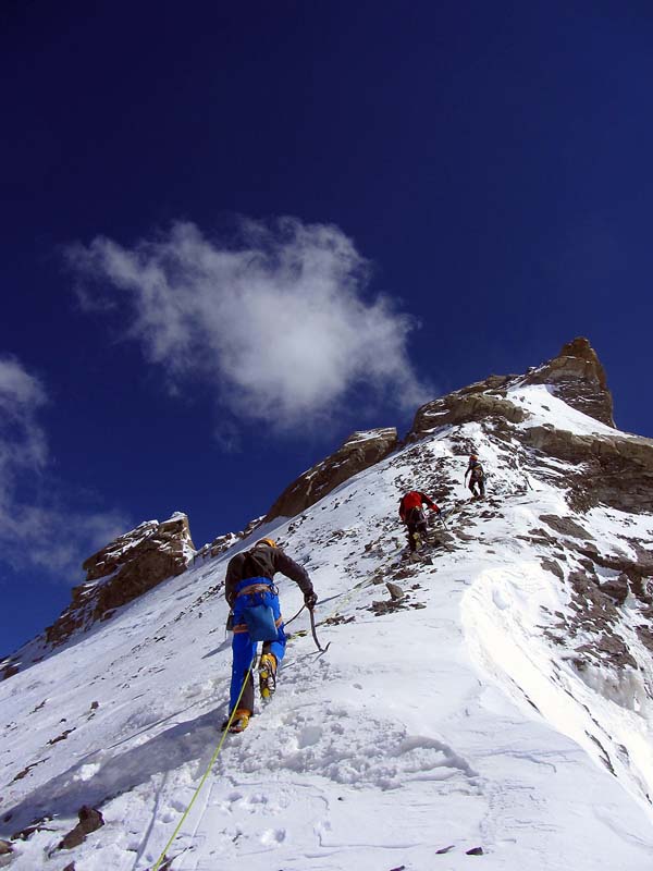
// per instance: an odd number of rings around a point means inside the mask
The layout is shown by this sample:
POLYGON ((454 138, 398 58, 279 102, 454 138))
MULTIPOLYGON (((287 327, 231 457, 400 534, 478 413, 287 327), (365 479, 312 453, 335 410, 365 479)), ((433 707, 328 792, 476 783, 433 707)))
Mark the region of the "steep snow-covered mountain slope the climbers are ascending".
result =
MULTIPOLYGON (((520 429, 604 426, 542 385, 509 398, 520 429)), ((492 422, 443 427, 256 530, 308 569, 331 646, 317 654, 306 612, 291 625, 276 696, 226 738, 174 871, 650 869, 650 605, 609 566, 641 561, 653 518, 572 512, 570 471, 492 422), (489 495, 469 503, 472 449, 489 495), (397 518, 412 487, 454 508, 416 562, 397 518)), ((0 836, 50 818, 13 842, 14 871, 151 868, 220 738, 224 571, 248 543, 0 684, 0 836), (82 805, 106 825, 57 851, 82 805)), ((276 580, 292 615, 301 594, 276 580)))

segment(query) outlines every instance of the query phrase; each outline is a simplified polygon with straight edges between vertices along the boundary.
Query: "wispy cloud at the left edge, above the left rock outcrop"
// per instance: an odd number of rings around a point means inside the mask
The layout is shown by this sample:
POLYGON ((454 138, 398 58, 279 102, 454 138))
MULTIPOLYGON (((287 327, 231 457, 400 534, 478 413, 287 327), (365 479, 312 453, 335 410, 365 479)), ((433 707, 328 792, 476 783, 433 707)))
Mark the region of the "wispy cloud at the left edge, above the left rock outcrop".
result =
POLYGON ((48 442, 37 415, 47 402, 35 376, 14 357, 0 357, 0 560, 74 580, 82 560, 127 522, 118 512, 70 510, 46 480, 48 442), (26 499, 26 491, 42 495, 26 499))

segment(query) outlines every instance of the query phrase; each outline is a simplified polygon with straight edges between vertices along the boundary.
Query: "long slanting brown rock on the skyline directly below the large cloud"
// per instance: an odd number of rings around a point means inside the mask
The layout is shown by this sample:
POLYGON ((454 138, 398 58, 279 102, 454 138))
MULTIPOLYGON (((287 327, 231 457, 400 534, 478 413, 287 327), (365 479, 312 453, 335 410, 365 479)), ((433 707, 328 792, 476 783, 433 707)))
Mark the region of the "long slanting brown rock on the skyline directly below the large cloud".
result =
POLYGON ((266 522, 275 517, 294 517, 352 476, 379 463, 396 446, 397 431, 394 427, 355 432, 334 454, 293 481, 272 505, 266 522))

